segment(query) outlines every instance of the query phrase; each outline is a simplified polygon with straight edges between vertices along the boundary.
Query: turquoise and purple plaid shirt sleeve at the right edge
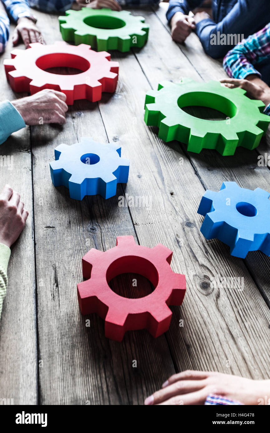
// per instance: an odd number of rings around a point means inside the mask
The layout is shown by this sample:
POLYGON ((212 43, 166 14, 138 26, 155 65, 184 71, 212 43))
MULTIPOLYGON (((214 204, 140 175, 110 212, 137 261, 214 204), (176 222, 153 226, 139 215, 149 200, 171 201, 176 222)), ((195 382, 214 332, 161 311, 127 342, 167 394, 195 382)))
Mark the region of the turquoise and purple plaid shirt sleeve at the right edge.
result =
POLYGON ((244 79, 250 74, 261 78, 255 67, 265 60, 270 61, 270 24, 229 51, 223 67, 231 78, 244 79))

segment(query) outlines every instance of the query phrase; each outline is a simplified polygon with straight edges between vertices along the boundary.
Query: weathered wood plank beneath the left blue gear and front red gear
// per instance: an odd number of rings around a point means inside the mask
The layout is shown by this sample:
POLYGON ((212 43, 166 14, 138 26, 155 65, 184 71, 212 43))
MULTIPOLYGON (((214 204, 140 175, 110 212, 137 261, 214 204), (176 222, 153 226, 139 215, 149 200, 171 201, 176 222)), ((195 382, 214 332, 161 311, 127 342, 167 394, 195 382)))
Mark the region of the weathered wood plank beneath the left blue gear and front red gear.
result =
MULTIPOLYGON (((60 39, 56 18, 45 16, 42 26, 47 43, 57 36, 60 39)), ((115 107, 117 94, 108 98, 115 107)), ((104 337, 104 321, 96 315, 82 317, 78 308, 76 284, 82 280, 85 252, 115 246, 116 236, 136 238, 128 208, 118 207, 122 186, 109 200, 98 196, 82 202, 71 200, 64 187, 53 187, 49 161, 54 158, 54 148, 61 142, 72 144, 81 136, 107 141, 96 103, 76 102, 68 110, 63 128, 32 128, 39 359, 43 360, 40 402, 142 404, 156 383, 161 385, 175 372, 165 337, 155 340, 140 331, 127 333, 121 344, 109 341, 104 337), (90 328, 85 327, 86 319, 91 320, 90 328), (137 368, 132 367, 134 359, 137 368)), ((114 136, 110 141, 117 140, 114 136)), ((128 149, 123 155, 132 157, 128 149)), ((124 284, 121 293, 127 289, 124 284)), ((136 290, 131 284, 128 289, 136 290)), ((140 289, 147 290, 145 286, 140 289)))

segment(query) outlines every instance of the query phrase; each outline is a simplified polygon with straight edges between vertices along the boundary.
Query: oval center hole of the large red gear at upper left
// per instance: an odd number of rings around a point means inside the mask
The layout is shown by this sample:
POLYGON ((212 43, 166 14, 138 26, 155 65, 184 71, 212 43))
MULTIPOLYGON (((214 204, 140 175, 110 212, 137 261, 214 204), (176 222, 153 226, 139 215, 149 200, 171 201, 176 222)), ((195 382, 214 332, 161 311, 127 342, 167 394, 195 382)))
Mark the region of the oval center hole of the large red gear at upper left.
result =
POLYGON ((75 75, 87 71, 90 63, 79 55, 52 53, 39 57, 36 60, 36 66, 50 74, 75 75))

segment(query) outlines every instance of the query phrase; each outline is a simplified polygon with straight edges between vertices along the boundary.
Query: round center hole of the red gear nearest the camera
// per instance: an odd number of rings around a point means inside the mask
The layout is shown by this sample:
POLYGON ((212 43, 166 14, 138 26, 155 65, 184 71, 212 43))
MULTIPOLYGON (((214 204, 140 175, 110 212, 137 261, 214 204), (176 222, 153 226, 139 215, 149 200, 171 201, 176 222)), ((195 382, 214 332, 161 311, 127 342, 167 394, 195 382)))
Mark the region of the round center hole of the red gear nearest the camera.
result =
POLYGON ((119 296, 135 299, 152 293, 158 284, 158 272, 149 260, 137 256, 120 257, 107 269, 107 283, 119 296))

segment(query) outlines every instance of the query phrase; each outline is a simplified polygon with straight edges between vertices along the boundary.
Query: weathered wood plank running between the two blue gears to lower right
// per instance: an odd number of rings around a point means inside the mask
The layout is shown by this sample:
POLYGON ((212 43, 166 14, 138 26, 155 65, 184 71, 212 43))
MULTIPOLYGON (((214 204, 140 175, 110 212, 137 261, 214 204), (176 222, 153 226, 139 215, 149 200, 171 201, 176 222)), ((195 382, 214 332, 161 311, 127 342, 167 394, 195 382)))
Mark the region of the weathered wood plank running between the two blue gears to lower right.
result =
POLYGON ((186 67, 189 76, 196 75, 177 46, 179 57, 172 67, 172 58, 168 59, 167 53, 171 50, 173 57, 175 50, 169 43, 168 32, 153 13, 143 15, 151 29, 146 46, 136 52, 136 59, 114 55, 114 60, 120 61, 123 83, 117 95, 120 116, 115 114, 112 100, 104 100, 100 109, 109 140, 119 137, 122 148, 129 149, 133 155, 127 193, 153 198, 151 212, 130 207, 139 242, 148 246, 163 242, 174 251, 174 271, 187 277, 184 304, 173 308, 175 314, 167 333, 174 361, 179 370, 213 369, 266 378, 269 310, 244 262, 231 258, 222 245, 215 246, 213 242, 209 246, 200 234, 202 219, 197 208, 205 190, 185 152, 177 143, 161 142, 156 131, 143 123, 145 93, 152 81, 157 84, 161 79, 170 79, 174 71, 178 73, 178 65, 182 71, 186 67), (167 62, 169 67, 164 68, 167 62), (244 293, 211 290, 210 284, 205 288, 205 280, 218 273, 227 277, 243 276, 244 293), (179 319, 184 319, 184 328, 179 328, 179 319), (263 362, 259 361, 260 357, 263 362))

